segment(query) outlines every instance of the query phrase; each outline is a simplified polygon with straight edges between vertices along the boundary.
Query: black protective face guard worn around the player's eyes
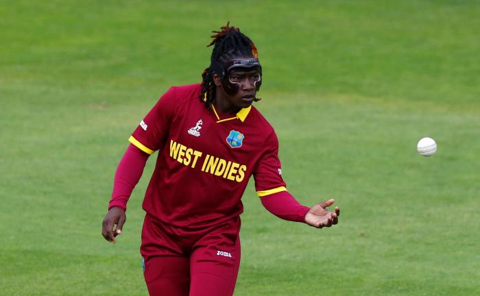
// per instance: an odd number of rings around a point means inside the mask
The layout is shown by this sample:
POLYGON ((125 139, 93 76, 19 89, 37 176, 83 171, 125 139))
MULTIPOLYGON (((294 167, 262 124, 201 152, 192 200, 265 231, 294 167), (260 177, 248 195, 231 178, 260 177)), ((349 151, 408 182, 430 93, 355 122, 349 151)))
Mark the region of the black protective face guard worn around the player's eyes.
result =
POLYGON ((235 95, 241 86, 241 81, 238 82, 235 79, 230 79, 230 71, 235 68, 259 69, 260 76, 258 78, 249 77, 248 79, 250 79, 250 82, 254 84, 256 91, 260 90, 260 86, 262 84, 262 66, 260 65, 258 58, 232 59, 228 60, 224 64, 212 62, 210 67, 212 72, 215 72, 220 76, 221 84, 224 86, 224 89, 228 95, 235 95))

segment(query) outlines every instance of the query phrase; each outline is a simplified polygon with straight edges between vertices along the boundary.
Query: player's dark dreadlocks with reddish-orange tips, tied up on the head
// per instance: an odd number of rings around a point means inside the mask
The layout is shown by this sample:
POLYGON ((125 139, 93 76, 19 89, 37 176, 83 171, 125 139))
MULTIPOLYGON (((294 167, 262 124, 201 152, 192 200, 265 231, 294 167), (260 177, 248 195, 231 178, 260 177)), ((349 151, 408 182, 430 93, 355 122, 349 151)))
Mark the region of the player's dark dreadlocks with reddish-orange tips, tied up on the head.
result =
MULTIPOLYGON (((230 27, 230 21, 227 25, 220 27, 221 31, 212 31, 212 42, 206 47, 214 45, 211 62, 226 62, 232 58, 239 56, 254 56, 258 57, 256 47, 252 40, 240 32, 238 27, 230 27)), ((210 108, 215 101, 215 84, 213 83, 213 76, 210 67, 206 68, 202 73, 202 90, 200 91, 200 101, 202 101, 206 108, 210 108)), ((255 98, 254 101, 260 99, 255 98)))

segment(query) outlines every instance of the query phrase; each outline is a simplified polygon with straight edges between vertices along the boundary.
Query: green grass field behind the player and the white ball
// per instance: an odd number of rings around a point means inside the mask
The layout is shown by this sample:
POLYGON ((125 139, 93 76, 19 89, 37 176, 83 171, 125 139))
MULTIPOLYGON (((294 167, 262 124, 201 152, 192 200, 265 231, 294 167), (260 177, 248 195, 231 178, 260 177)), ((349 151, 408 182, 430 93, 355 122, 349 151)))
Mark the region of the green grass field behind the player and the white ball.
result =
POLYGON ((154 161, 112 245, 115 168, 228 20, 259 49, 289 191, 341 208, 282 221, 251 181, 235 295, 480 295, 479 1, 173 2, 0 1, 0 295, 147 295, 154 161))

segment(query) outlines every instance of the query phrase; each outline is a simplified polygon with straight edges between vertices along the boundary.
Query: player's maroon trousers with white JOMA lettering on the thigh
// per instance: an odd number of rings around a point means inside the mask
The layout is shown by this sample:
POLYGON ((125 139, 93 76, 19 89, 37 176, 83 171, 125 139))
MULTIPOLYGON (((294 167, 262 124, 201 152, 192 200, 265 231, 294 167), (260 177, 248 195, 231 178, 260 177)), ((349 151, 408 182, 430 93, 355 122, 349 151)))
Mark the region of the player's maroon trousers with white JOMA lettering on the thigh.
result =
POLYGON ((240 218, 205 230, 186 230, 148 214, 141 254, 150 295, 233 295, 240 264, 240 218))

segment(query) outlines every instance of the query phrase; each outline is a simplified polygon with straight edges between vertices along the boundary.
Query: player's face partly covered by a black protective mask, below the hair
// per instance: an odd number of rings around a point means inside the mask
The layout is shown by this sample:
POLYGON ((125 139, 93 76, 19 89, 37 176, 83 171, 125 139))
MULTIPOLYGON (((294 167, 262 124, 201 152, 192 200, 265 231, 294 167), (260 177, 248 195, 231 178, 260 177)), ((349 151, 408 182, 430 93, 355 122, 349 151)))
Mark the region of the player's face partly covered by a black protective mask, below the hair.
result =
POLYGON ((217 99, 222 100, 224 106, 229 109, 236 110, 248 108, 252 105, 256 91, 261 84, 261 75, 258 68, 234 68, 221 79, 218 75, 214 75, 214 82, 217 90, 217 99))

